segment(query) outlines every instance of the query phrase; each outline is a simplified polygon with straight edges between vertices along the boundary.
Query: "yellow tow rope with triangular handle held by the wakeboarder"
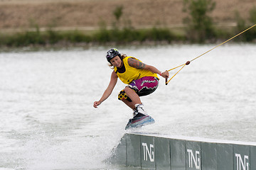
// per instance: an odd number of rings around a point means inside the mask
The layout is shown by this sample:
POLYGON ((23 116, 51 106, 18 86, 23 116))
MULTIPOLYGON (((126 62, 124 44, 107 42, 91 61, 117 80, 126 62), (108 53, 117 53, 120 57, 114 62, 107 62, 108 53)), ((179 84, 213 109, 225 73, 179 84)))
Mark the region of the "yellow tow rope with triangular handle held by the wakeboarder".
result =
MULTIPOLYGON (((233 36, 233 38, 236 38, 238 35, 241 35, 242 33, 245 33, 247 30, 250 30, 251 28, 253 28, 253 27, 255 27, 255 26, 256 26, 256 24, 255 24, 254 26, 251 26, 250 28, 247 28, 246 30, 243 30, 241 33, 238 33, 237 35, 233 36)), ((232 40, 233 38, 230 38, 230 39, 226 40, 225 42, 228 42, 228 41, 232 40)), ((220 47, 220 45, 225 44, 225 42, 220 43, 220 44, 217 45, 216 47, 220 47)), ((198 59, 199 57, 201 57, 201 56, 203 56, 203 55, 206 55, 206 53, 210 52, 211 50, 214 50, 216 47, 213 47, 212 49, 208 50, 207 52, 204 52, 202 55, 199 55, 198 57, 194 58, 193 60, 196 60, 196 59, 198 59)), ((181 67, 181 69, 183 69, 186 65, 190 64, 191 62, 193 62, 193 60, 187 61, 185 64, 181 64, 181 65, 178 66, 178 67, 181 67)), ((174 67, 173 69, 177 69, 178 67, 174 67)), ((170 71, 173 70, 173 69, 169 69, 169 70, 167 70, 167 71, 170 72, 170 71)), ((179 69, 178 72, 180 72, 181 69, 179 69)), ((178 74, 178 72, 176 72, 176 74, 178 74)), ((171 77, 171 79, 173 79, 173 78, 176 76, 176 74, 174 74, 174 76, 171 77)), ((169 81, 166 79, 166 85, 169 84, 169 82, 171 81, 171 79, 169 79, 169 81)))

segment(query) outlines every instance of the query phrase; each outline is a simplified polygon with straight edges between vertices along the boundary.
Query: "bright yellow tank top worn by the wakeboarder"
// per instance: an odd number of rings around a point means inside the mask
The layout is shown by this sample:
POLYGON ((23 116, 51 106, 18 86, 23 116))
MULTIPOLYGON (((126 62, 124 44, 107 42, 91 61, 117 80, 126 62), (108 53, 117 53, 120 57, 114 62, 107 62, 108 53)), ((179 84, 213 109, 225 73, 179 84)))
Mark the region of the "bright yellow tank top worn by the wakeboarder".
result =
POLYGON ((132 83, 133 80, 141 79, 142 77, 157 77, 156 73, 150 72, 149 70, 136 69, 134 67, 129 66, 128 64, 129 58, 133 58, 137 60, 137 58, 134 58, 134 57, 124 57, 124 59, 122 60, 125 67, 124 73, 117 72, 117 67, 114 67, 114 72, 117 73, 117 76, 124 84, 130 84, 132 83))

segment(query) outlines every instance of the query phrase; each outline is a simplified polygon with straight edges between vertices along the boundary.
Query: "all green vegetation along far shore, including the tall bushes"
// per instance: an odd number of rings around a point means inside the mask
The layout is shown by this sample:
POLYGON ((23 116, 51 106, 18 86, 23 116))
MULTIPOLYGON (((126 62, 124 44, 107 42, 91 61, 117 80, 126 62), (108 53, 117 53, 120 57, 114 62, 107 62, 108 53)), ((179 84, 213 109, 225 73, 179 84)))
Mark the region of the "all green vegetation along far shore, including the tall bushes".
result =
MULTIPOLYGON (((225 28, 215 28, 213 19, 210 18, 210 12, 215 8, 215 2, 212 0, 183 0, 184 11, 189 16, 184 19, 186 28, 175 32, 169 28, 149 28, 134 29, 131 21, 125 21, 122 26, 123 6, 117 6, 113 15, 115 21, 112 23, 112 29, 107 29, 104 21, 100 22, 100 30, 92 33, 84 33, 79 30, 56 31, 49 28, 41 31, 36 24, 33 27, 35 31, 26 31, 23 33, 10 33, 8 35, 0 33, 0 47, 24 47, 24 46, 45 46, 45 45, 77 45, 80 43, 107 44, 129 44, 131 42, 146 43, 159 42, 215 42, 216 40, 227 40, 231 36, 240 33, 249 26, 256 23, 256 7, 250 10, 249 21, 241 18, 239 13, 235 13, 237 27, 233 30, 225 28), (122 26, 122 27, 121 27, 122 26), (181 30, 181 31, 180 31, 181 30)), ((246 33, 236 38, 237 41, 253 42, 256 40, 256 27, 248 30, 246 33)))

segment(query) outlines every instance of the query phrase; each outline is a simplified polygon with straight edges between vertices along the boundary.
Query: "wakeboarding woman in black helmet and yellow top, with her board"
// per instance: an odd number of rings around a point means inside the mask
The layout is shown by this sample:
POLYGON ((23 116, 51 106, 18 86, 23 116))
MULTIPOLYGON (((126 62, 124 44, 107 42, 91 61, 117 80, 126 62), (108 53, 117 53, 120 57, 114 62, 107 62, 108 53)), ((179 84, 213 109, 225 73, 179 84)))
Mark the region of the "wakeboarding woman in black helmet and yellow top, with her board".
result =
POLYGON ((153 93, 159 84, 157 74, 167 79, 169 72, 160 72, 156 67, 144 64, 134 57, 121 55, 115 48, 107 51, 106 58, 110 62, 110 66, 114 67, 114 71, 111 74, 110 84, 107 86, 100 101, 95 101, 93 106, 97 108, 97 106, 110 96, 114 86, 117 84, 117 78, 119 78, 124 84, 128 85, 120 91, 118 99, 134 111, 134 117, 129 119, 125 129, 137 128, 145 124, 154 123, 154 119, 147 115, 144 110, 139 96, 146 96, 153 93))

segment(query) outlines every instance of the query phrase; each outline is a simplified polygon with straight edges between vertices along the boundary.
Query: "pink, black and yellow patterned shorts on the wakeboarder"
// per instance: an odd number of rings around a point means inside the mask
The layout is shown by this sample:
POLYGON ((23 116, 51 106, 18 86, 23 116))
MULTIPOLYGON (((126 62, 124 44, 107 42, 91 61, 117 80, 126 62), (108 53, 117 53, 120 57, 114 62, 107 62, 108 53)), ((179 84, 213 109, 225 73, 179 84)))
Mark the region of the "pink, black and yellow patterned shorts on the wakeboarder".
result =
MULTIPOLYGON (((146 96, 153 93, 159 84, 159 79, 156 77, 142 77, 141 79, 137 79, 132 81, 129 84, 129 88, 133 89, 139 96, 146 96)), ((125 94, 124 90, 120 91, 118 95, 119 100, 127 100, 132 101, 127 94, 125 94)))

